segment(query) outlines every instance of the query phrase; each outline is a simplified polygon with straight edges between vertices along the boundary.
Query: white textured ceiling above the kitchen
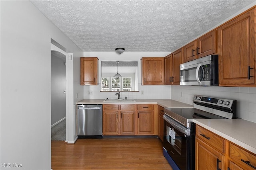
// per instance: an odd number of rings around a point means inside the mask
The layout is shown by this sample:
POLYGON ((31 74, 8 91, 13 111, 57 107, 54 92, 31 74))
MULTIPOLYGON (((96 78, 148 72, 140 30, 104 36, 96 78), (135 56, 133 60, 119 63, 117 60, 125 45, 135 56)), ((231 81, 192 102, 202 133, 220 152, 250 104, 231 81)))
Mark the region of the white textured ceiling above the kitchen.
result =
POLYGON ((83 51, 173 52, 255 0, 31 2, 83 51))

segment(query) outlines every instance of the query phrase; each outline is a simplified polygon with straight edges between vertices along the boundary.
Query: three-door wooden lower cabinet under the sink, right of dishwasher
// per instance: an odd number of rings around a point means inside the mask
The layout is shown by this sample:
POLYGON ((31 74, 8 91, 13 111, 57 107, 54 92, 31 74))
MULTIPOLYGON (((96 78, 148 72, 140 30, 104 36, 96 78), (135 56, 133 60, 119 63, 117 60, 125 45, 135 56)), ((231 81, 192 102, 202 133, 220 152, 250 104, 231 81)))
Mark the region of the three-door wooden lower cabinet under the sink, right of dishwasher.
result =
POLYGON ((156 116, 154 104, 104 104, 103 135, 157 135, 156 116))

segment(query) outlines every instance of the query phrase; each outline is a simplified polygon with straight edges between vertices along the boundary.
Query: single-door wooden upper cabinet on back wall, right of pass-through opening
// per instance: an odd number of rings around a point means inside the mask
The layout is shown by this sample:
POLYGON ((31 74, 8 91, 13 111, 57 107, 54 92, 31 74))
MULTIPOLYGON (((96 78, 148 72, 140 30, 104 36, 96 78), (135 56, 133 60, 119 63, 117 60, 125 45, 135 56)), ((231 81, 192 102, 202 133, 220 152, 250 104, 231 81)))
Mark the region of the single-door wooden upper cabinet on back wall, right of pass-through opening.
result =
POLYGON ((164 57, 141 59, 142 85, 164 84, 164 57))

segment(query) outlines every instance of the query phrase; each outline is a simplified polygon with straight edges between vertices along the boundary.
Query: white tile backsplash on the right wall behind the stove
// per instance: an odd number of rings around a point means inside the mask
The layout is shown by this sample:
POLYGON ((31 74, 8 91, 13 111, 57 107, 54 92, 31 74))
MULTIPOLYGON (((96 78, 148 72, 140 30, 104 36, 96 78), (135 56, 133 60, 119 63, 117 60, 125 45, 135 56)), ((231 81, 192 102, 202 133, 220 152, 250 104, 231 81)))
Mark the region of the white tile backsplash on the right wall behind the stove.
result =
POLYGON ((194 94, 237 100, 237 117, 256 123, 256 88, 171 86, 171 99, 193 104, 194 94))

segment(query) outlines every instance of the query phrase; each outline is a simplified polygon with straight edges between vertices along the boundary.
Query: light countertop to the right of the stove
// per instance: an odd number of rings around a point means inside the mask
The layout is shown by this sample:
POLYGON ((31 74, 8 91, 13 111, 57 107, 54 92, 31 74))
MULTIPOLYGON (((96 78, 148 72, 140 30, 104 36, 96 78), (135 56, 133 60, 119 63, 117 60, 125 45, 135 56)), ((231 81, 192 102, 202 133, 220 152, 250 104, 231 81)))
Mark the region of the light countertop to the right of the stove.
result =
POLYGON ((193 119, 193 122, 256 154, 256 123, 244 119, 193 119))

